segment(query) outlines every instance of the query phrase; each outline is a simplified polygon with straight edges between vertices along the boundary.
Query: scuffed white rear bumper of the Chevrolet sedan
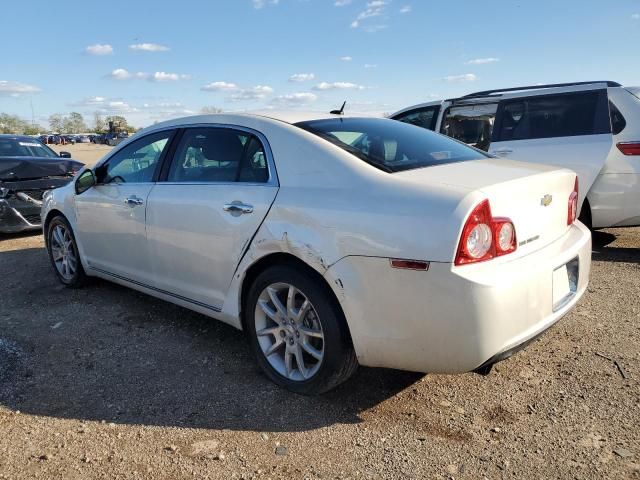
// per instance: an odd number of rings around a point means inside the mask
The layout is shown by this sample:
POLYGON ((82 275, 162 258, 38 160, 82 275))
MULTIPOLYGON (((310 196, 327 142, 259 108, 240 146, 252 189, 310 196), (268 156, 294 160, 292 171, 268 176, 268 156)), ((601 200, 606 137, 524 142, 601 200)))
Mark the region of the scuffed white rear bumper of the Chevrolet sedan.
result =
POLYGON ((556 323, 584 294, 590 266, 591 234, 577 222, 562 238, 512 261, 431 263, 423 272, 392 269, 385 258, 347 257, 327 277, 362 365, 461 373, 556 323), (554 305, 553 271, 574 259, 575 292, 554 305))

